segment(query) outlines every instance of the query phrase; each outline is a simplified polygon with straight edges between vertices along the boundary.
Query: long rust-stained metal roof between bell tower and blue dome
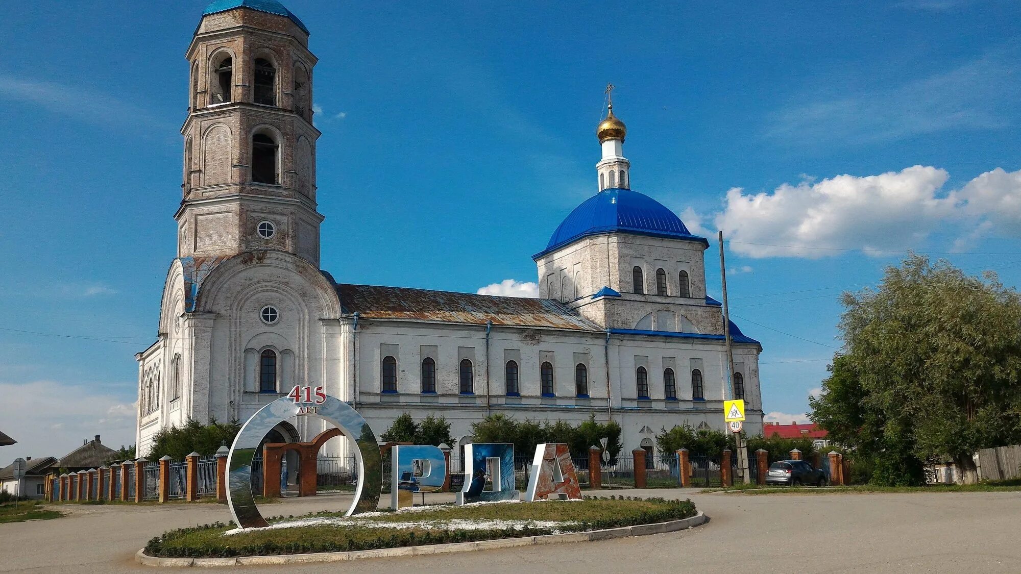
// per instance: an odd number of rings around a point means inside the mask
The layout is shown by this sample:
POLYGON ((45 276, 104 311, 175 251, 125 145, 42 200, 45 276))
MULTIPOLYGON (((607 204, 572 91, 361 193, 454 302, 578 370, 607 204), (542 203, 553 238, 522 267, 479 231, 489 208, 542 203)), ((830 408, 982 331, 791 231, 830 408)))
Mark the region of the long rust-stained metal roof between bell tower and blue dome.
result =
POLYGON ((516 327, 547 327, 576 331, 598 331, 567 305, 552 299, 497 297, 452 291, 430 291, 408 287, 337 284, 344 310, 364 319, 402 319, 516 327))

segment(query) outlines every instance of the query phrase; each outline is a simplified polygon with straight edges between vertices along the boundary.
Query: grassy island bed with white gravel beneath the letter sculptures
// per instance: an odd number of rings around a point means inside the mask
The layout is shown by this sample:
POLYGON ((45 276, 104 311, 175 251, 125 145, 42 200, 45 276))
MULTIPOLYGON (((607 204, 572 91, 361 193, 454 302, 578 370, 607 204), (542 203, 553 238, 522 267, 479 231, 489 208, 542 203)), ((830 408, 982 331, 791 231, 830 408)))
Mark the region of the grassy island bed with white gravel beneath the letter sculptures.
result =
MULTIPOLYGON (((623 498, 623 497, 622 497, 623 498)), ((435 510, 385 513, 359 518, 352 524, 310 525, 295 528, 254 530, 225 536, 223 523, 166 532, 146 545, 146 554, 159 557, 234 557, 349 552, 446 542, 467 542, 551 534, 554 531, 585 531, 636 524, 650 524, 694 516, 690 500, 590 498, 581 501, 543 501, 455 507, 438 505, 435 510), (465 529, 449 527, 450 520, 525 521, 515 526, 465 529), (369 522, 416 523, 400 527, 374 527, 369 522), (533 524, 531 521, 540 521, 533 524), (557 522, 552 527, 548 522, 557 522), (428 524, 437 523, 436 528, 428 524)), ((340 515, 342 516, 342 515, 340 515)), ((307 518, 339 518, 320 513, 307 518)), ((271 523, 279 522, 271 520, 271 523)))

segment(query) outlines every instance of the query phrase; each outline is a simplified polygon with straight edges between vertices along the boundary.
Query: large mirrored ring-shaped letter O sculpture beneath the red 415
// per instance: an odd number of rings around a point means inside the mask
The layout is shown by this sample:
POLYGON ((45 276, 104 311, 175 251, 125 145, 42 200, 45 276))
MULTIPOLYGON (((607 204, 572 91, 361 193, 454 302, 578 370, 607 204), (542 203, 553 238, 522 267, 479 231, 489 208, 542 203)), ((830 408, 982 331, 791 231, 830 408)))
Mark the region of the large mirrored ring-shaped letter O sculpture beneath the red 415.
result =
MULTIPOLYGON (((296 416, 323 419, 339 428, 357 446, 354 452, 358 463, 358 482, 354 491, 354 501, 345 516, 373 512, 379 505, 383 486, 383 459, 376 442, 376 435, 369 423, 349 404, 333 396, 325 396, 325 400, 318 402, 315 406, 309 406, 310 402, 306 400, 302 404, 296 399, 292 400, 292 397, 282 396, 260 409, 241 427, 241 432, 234 439, 231 451, 227 456, 229 477, 227 503, 238 526, 242 528, 269 526, 255 506, 251 486, 252 459, 273 427, 296 416)), ((513 461, 512 458, 512 467, 513 461)), ((514 472, 510 473, 510 485, 514 486, 514 472)))

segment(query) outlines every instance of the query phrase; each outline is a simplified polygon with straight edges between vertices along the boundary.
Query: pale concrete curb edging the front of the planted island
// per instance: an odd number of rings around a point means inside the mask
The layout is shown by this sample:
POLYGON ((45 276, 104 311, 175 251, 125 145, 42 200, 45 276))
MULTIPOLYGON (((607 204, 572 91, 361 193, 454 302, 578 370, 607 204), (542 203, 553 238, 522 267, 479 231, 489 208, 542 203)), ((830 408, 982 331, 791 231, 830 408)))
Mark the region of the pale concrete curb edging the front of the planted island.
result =
POLYGON ((543 536, 522 536, 521 538, 500 538, 497 540, 479 540, 477 542, 453 542, 449 544, 427 544, 424 546, 402 546, 399 548, 380 548, 375 551, 354 551, 349 553, 317 553, 294 554, 282 556, 245 556, 236 558, 156 558, 145 554, 145 549, 135 554, 135 560, 145 566, 197 566, 214 568, 217 566, 268 566, 282 564, 308 564, 313 562, 343 562, 347 560, 363 560, 368 558, 386 558, 396 556, 427 556, 436 554, 467 553, 487 551, 491 548, 512 548, 517 546, 532 546, 540 544, 556 544, 564 542, 587 542, 591 540, 609 540, 611 538, 626 538, 628 536, 644 536, 646 534, 662 534, 693 528, 709 522, 709 517, 698 511, 698 514, 683 520, 642 524, 639 526, 623 526, 606 530, 590 530, 588 532, 567 532, 565 534, 546 534, 543 536))

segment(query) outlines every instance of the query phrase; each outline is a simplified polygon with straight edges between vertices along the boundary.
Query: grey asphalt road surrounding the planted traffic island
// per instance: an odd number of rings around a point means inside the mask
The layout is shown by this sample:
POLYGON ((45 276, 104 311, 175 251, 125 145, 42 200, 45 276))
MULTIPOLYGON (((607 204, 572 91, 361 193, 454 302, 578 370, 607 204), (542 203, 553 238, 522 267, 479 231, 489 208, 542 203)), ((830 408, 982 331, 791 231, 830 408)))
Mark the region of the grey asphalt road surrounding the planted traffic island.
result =
MULTIPOLYGON (((599 542, 238 568, 257 572, 1021 572, 1021 492, 698 494, 712 520, 691 530, 599 542)), ((266 515, 339 510, 346 496, 295 499, 266 515)), ((65 507, 66 508, 66 507, 65 507)), ((0 572, 158 572, 135 552, 164 530, 227 521, 212 504, 72 507, 57 520, 0 524, 0 572)))

